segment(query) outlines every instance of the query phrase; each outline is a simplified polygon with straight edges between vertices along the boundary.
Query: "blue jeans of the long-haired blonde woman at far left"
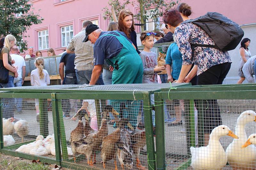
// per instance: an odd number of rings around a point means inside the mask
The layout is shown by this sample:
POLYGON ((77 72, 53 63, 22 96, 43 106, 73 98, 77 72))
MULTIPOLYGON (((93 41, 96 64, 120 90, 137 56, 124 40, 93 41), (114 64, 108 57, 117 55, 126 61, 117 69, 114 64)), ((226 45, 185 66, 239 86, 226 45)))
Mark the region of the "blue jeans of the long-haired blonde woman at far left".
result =
MULTIPOLYGON (((14 77, 9 75, 9 81, 8 83, 0 83, 1 88, 9 88, 14 87, 13 84, 14 77)), ((3 118, 10 118, 13 117, 13 110, 15 106, 15 101, 13 98, 2 98, 1 102, 3 103, 3 118)))

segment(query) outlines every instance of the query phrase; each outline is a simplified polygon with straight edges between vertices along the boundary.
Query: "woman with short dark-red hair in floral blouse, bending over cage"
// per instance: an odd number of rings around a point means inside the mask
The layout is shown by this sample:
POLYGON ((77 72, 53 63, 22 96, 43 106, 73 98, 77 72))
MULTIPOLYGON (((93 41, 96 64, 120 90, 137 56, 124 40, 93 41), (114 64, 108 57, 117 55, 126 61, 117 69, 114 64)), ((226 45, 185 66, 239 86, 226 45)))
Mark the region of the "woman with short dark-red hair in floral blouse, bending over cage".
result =
MULTIPOLYGON (((174 33, 177 45, 182 54, 182 67, 177 82, 189 82, 197 74, 197 85, 222 84, 231 66, 227 51, 210 47, 194 47, 190 44, 214 45, 212 38, 199 26, 184 23, 180 12, 167 10, 163 15, 164 23, 174 33), (189 72, 192 64, 193 69, 189 72), (189 73, 188 73, 189 72, 189 73)), ((204 145, 208 145, 209 135, 213 128, 222 124, 217 100, 207 100, 204 111, 204 145)))

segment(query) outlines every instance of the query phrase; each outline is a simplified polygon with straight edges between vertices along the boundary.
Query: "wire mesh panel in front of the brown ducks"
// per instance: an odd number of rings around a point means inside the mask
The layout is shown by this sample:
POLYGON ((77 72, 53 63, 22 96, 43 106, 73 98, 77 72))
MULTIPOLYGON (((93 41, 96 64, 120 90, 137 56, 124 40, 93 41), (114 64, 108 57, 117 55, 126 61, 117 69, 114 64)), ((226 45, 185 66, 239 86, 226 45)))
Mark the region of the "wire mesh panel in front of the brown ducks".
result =
POLYGON ((68 144, 68 155, 62 159, 99 169, 147 167, 145 127, 137 128, 141 101, 62 99, 61 103, 61 142, 68 144))

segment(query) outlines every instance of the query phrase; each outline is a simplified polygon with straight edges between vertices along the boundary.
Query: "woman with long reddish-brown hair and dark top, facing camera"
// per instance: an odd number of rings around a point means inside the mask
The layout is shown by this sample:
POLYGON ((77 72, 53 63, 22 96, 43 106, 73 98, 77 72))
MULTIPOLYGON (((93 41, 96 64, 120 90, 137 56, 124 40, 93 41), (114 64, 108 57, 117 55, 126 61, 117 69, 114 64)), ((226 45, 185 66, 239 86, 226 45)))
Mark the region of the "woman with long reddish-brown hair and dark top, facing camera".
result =
POLYGON ((137 35, 134 28, 133 14, 128 9, 123 9, 118 15, 118 30, 126 34, 136 47, 136 51, 140 54, 137 46, 137 35))

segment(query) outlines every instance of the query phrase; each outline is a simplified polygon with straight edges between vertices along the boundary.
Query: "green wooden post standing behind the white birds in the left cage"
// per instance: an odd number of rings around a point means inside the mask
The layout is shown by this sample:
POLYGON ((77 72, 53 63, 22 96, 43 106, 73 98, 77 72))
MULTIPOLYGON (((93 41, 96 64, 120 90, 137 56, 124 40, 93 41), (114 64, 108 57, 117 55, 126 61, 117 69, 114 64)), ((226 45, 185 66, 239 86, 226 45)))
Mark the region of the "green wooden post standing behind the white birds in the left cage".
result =
POLYGON ((47 99, 39 99, 39 123, 40 135, 43 135, 44 138, 46 138, 46 136, 49 135, 47 99))

